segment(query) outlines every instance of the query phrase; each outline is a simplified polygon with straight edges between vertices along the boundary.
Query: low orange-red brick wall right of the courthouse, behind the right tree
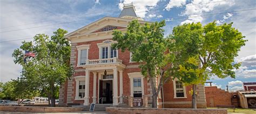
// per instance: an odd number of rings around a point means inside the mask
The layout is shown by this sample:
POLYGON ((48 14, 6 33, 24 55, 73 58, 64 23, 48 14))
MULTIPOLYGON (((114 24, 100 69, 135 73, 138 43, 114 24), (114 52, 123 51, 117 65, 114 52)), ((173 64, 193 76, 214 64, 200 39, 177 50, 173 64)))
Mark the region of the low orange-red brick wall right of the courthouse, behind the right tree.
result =
POLYGON ((231 97, 236 92, 221 90, 216 86, 205 87, 207 107, 217 107, 217 105, 232 105, 231 97))

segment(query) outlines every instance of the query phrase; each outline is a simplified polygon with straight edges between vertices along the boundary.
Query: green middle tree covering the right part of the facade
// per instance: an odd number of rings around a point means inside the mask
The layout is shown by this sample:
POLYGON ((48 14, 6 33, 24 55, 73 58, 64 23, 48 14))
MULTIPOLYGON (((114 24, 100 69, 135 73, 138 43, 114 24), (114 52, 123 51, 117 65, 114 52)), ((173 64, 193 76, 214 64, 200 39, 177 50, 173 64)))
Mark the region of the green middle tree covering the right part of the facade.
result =
POLYGON ((164 39, 165 22, 156 22, 152 24, 141 25, 138 20, 132 20, 127 26, 126 33, 114 30, 113 40, 117 44, 113 44, 113 48, 126 49, 132 53, 132 61, 140 63, 139 68, 142 70, 144 77, 150 79, 152 87, 152 107, 157 108, 157 96, 161 87, 161 82, 166 82, 170 76, 160 75, 161 68, 166 66, 165 52, 166 40, 164 39), (160 75, 160 83, 154 84, 154 79, 160 75))

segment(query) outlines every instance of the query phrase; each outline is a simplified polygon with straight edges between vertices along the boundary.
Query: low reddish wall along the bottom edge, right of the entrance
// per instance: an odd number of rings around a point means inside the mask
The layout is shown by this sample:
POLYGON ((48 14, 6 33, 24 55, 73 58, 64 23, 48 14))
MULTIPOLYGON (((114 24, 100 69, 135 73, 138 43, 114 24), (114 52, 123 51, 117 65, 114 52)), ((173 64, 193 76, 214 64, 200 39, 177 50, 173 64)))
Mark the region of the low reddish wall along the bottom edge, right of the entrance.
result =
POLYGON ((227 109, 157 109, 157 108, 106 108, 106 112, 109 113, 140 113, 140 114, 153 114, 153 113, 179 113, 179 114, 208 114, 218 113, 227 114, 227 109))

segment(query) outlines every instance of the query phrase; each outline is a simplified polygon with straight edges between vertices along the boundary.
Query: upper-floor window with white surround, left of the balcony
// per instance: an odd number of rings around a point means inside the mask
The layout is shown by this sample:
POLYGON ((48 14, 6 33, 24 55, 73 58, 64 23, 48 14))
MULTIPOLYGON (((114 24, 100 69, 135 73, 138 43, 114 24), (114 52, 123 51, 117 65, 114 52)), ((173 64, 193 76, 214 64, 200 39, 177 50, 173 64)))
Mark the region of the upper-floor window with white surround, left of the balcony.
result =
POLYGON ((86 64, 86 60, 88 59, 88 52, 90 45, 79 45, 76 46, 78 55, 77 55, 77 66, 82 66, 86 64))

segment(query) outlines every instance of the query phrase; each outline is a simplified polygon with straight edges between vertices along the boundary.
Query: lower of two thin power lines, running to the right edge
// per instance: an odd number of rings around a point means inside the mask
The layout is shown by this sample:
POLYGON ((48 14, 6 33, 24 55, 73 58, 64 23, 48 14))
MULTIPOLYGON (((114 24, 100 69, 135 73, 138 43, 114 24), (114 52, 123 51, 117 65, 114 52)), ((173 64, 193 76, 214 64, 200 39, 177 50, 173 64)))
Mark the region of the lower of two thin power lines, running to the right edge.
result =
MULTIPOLYGON (((256 9, 246 9, 246 10, 237 10, 237 11, 229 11, 229 12, 220 12, 220 13, 212 13, 212 14, 200 15, 200 16, 211 16, 211 15, 218 15, 218 14, 223 14, 223 13, 233 13, 233 12, 242 12, 242 11, 251 11, 251 10, 256 10, 256 9)), ((184 18, 194 18, 194 17, 200 17, 200 16, 191 16, 191 17, 184 17, 184 18)), ((184 19, 184 18, 174 18, 174 19, 171 19, 171 20, 184 19)), ((98 28, 93 29, 93 30, 98 30, 98 28)), ((25 39, 32 39, 32 38, 25 38, 25 39)), ((9 42, 9 41, 17 41, 17 40, 25 40, 25 39, 6 40, 6 41, 0 41, 0 43, 1 42, 9 42)))

